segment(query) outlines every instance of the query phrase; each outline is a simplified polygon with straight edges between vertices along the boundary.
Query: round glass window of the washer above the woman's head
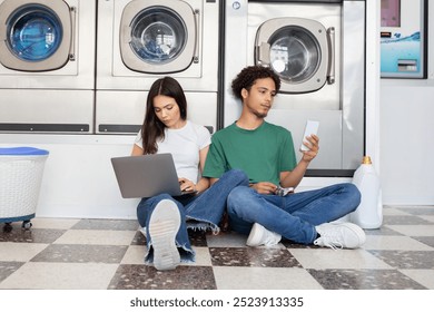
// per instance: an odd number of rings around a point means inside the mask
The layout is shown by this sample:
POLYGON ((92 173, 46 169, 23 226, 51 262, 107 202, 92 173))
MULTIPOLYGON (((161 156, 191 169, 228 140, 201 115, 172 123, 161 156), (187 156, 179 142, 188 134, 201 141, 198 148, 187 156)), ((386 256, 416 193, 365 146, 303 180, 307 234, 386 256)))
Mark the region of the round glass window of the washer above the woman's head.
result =
POLYGON ((131 21, 130 47, 149 64, 170 62, 183 52, 187 39, 183 19, 165 7, 145 9, 131 21))

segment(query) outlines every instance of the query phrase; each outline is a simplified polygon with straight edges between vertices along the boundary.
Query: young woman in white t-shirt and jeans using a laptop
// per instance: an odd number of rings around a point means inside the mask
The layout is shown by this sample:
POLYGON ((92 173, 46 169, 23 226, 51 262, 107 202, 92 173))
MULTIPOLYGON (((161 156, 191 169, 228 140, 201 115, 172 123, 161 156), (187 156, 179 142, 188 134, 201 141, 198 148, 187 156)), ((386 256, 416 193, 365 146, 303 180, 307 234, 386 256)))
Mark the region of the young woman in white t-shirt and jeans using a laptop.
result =
POLYGON ((217 233, 227 195, 238 185, 248 185, 248 179, 240 170, 229 170, 209 188, 209 179, 200 177, 210 134, 204 126, 187 120, 187 100, 177 80, 156 80, 146 105, 132 156, 170 153, 181 191, 196 192, 179 197, 159 194, 142 198, 137 206, 137 218, 147 237, 145 261, 154 263, 157 270, 172 270, 180 262, 195 260, 187 228, 217 233))

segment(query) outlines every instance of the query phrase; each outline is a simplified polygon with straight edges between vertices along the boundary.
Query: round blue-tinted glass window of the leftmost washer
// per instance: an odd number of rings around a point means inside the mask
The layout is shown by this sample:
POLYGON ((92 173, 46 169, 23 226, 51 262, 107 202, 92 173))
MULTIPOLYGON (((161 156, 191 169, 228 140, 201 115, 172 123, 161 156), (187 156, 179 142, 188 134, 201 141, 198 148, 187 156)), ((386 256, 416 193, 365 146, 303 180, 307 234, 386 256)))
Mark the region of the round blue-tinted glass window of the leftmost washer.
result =
POLYGON ((58 16, 40 4, 19 8, 8 19, 7 45, 14 56, 26 61, 51 57, 62 41, 62 25, 58 16))

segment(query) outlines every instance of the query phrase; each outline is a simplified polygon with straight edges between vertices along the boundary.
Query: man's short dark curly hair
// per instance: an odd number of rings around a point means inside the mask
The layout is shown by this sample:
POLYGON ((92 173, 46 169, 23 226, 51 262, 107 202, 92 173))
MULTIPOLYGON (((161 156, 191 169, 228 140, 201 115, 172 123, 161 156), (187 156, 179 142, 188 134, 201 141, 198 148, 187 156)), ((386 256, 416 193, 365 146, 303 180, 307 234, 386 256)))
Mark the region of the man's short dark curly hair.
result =
POLYGON ((244 68, 233 80, 231 89, 234 96, 241 99, 241 90, 250 90, 257 79, 272 78, 276 85, 276 92, 280 89, 280 78, 268 67, 248 66, 244 68))

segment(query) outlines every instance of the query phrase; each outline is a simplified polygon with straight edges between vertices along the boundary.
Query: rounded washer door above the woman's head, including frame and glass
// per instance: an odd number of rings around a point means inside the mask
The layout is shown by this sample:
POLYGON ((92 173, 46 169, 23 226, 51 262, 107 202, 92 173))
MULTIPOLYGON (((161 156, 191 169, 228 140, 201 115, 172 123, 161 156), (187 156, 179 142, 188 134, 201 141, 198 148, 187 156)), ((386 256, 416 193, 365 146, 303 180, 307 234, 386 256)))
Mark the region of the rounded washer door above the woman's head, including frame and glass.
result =
POLYGON ((120 21, 120 55, 131 70, 179 72, 195 60, 196 13, 179 0, 129 2, 120 21))

